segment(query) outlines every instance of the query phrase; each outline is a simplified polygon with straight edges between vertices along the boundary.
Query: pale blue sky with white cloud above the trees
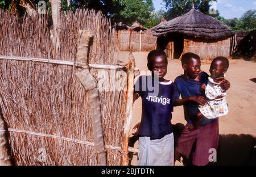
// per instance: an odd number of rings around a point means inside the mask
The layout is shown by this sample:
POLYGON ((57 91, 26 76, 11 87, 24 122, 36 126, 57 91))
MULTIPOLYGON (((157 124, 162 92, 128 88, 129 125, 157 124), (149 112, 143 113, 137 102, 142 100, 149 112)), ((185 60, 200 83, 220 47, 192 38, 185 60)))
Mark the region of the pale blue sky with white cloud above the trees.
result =
MULTIPOLYGON (((166 10, 162 0, 152 0, 155 11, 166 10)), ((217 8, 220 16, 226 19, 240 18, 248 10, 256 10, 256 0, 217 0, 213 8, 217 8)))

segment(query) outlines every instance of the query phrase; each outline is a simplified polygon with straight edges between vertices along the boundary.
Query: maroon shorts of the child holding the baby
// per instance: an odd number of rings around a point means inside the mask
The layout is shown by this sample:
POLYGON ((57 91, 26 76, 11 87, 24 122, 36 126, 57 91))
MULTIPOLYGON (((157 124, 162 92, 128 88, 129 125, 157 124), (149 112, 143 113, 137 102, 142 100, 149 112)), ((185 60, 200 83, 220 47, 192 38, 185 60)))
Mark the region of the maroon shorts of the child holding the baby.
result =
POLYGON ((218 147, 218 120, 192 132, 188 130, 189 125, 189 123, 185 125, 181 136, 178 138, 176 151, 189 158, 192 146, 196 141, 193 165, 207 165, 209 156, 213 153, 210 149, 214 148, 217 151, 218 147))

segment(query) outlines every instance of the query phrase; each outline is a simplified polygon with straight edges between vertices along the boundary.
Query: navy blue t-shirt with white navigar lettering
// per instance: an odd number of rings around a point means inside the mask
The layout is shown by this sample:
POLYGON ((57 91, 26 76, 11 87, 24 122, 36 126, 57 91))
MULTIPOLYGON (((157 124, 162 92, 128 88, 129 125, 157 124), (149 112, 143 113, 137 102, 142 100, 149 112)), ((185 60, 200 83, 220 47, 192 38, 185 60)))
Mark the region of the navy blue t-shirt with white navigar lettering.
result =
POLYGON ((172 133, 172 111, 174 110, 175 84, 154 82, 151 75, 142 75, 134 86, 142 98, 142 120, 139 136, 161 139, 172 133))

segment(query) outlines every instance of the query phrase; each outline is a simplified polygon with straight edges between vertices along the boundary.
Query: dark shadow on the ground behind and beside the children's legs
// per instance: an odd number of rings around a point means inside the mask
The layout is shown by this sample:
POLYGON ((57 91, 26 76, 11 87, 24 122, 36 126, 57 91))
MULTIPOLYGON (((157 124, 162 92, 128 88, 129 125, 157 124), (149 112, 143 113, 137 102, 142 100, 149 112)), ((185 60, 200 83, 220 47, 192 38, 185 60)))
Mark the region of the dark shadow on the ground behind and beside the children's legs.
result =
MULTIPOLYGON (((177 138, 180 136, 184 125, 181 123, 173 125, 174 128, 174 145, 177 144, 177 138)), ((134 147, 136 141, 138 141, 138 136, 133 136, 129 138, 129 146, 134 147)), ((217 162, 210 163, 209 166, 240 166, 240 165, 250 165, 255 166, 256 164, 256 149, 255 149, 256 139, 250 134, 220 134, 220 140, 217 149, 217 162)), ((193 149, 192 149, 193 151, 193 149)), ((191 153, 192 154, 192 153, 191 153)), ((131 160, 133 155, 137 153, 129 153, 129 165, 131 165, 131 160)), ((192 165, 192 157, 188 159, 181 156, 184 166, 192 165)))

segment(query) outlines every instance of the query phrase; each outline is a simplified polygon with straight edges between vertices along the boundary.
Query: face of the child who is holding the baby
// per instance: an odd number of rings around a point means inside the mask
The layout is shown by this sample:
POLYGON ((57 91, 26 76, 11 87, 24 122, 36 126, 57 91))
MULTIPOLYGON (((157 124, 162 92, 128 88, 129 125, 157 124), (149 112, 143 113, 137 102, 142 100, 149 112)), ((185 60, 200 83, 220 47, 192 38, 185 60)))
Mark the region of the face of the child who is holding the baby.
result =
POLYGON ((185 74, 187 74, 188 78, 195 79, 201 70, 201 61, 200 59, 191 58, 187 62, 187 64, 183 65, 183 69, 185 74))

